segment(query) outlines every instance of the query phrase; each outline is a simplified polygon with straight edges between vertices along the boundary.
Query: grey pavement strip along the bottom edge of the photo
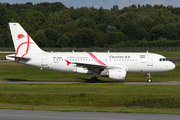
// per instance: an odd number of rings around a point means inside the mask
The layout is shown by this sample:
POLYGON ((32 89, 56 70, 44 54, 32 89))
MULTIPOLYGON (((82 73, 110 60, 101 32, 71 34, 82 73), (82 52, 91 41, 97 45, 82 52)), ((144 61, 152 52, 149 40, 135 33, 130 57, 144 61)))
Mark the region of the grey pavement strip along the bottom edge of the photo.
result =
POLYGON ((52 112, 0 109, 1 120, 179 120, 180 115, 101 112, 52 112))

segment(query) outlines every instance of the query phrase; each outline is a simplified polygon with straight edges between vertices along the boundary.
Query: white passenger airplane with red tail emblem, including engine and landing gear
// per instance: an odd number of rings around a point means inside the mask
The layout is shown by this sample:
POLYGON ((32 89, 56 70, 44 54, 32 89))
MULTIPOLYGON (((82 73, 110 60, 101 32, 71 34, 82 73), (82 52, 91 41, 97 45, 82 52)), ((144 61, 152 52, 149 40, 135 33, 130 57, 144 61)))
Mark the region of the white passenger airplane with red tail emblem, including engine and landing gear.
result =
POLYGON ((147 73, 150 83, 150 73, 175 68, 164 56, 148 52, 45 52, 19 23, 10 22, 9 27, 16 54, 7 55, 7 60, 57 72, 92 74, 91 83, 97 82, 97 75, 125 80, 127 73, 147 73))

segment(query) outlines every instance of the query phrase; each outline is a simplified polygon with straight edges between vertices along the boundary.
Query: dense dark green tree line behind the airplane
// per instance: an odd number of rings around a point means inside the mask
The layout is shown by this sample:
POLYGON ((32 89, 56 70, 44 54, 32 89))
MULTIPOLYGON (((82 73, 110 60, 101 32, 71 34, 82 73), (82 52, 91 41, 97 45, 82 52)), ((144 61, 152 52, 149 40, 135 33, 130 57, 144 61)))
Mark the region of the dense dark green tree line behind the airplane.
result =
POLYGON ((0 47, 19 22, 40 47, 180 46, 180 8, 149 4, 111 10, 67 8, 61 2, 0 3, 0 47))

